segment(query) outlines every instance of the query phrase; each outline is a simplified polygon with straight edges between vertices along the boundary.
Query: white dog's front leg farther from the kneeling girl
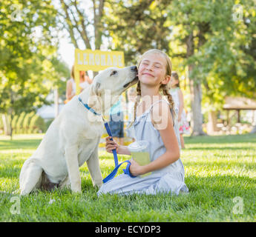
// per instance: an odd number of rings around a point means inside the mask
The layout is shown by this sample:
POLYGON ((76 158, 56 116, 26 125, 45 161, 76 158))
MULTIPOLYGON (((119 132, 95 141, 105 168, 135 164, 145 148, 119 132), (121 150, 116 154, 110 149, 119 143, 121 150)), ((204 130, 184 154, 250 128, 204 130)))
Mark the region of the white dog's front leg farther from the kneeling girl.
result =
POLYGON ((65 147, 65 159, 68 166, 68 176, 70 178, 71 190, 81 192, 81 177, 79 173, 77 146, 65 147))

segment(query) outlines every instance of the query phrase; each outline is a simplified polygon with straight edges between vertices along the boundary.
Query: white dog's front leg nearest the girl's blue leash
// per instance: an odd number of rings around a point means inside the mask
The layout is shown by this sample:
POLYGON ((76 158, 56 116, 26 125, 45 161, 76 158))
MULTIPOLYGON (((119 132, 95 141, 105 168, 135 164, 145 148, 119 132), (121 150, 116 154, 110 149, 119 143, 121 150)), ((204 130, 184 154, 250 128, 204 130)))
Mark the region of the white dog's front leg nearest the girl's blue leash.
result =
POLYGON ((93 186, 102 186, 102 173, 99 168, 99 156, 98 147, 93 151, 91 157, 86 161, 89 172, 91 174, 91 179, 93 181, 93 186))

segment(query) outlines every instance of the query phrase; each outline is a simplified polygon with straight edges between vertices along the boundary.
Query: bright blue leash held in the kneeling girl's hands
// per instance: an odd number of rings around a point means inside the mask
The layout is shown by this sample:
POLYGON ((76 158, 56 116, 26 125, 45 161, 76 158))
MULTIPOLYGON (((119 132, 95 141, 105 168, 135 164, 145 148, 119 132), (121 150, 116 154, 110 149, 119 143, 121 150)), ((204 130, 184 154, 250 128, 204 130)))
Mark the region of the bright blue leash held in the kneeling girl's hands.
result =
MULTIPOLYGON (((108 136, 111 136, 112 137, 112 133, 111 133, 111 129, 108 125, 108 122, 105 122, 104 123, 105 125, 105 129, 107 130, 108 132, 108 136)), ((113 138, 111 138, 111 141, 113 141, 113 138)), ((131 178, 135 178, 136 176, 133 176, 131 173, 130 173, 130 165, 131 165, 131 162, 129 160, 127 161, 123 161, 122 163, 118 164, 118 158, 117 158, 117 154, 116 154, 116 149, 112 150, 113 152, 113 155, 114 155, 114 161, 115 161, 115 168, 114 170, 106 177, 103 179, 103 183, 105 184, 107 181, 110 181, 112 178, 114 178, 114 176, 116 176, 116 173, 119 169, 119 167, 124 164, 124 163, 128 163, 126 165, 126 168, 125 169, 122 169, 123 172, 125 173, 125 175, 128 175, 130 176, 131 178)))

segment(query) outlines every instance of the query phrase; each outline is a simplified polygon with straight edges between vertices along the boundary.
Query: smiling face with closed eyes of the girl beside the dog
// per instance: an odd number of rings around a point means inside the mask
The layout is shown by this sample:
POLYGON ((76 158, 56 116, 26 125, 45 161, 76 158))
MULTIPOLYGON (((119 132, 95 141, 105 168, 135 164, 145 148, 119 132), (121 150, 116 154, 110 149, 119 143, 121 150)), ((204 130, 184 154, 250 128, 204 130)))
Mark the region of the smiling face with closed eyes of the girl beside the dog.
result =
POLYGON ((159 53, 149 53, 145 55, 138 70, 139 80, 148 86, 167 84, 170 76, 166 74, 166 61, 159 53), (166 77, 168 80, 166 82, 166 77))

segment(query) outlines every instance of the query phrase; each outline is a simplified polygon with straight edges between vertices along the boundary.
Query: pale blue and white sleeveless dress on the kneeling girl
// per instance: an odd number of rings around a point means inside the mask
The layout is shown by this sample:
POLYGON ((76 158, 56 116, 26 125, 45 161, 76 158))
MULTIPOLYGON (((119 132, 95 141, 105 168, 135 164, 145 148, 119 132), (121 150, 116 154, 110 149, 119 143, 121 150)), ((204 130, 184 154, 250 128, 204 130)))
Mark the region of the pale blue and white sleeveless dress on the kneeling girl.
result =
MULTIPOLYGON (((165 99, 160 101, 168 103, 165 99)), ((133 124, 136 140, 147 140, 149 142, 148 147, 151 161, 154 161, 166 152, 160 132, 151 123, 150 111, 154 104, 145 113, 137 117, 133 124)), ((174 122, 174 131, 180 144, 180 134, 177 130, 176 122, 174 122)), ((180 158, 167 167, 161 170, 154 170, 151 175, 142 178, 140 176, 131 178, 123 173, 102 184, 97 195, 99 196, 102 193, 127 195, 132 193, 157 194, 170 192, 177 195, 182 192, 188 193, 188 187, 184 183, 184 167, 180 158)))

